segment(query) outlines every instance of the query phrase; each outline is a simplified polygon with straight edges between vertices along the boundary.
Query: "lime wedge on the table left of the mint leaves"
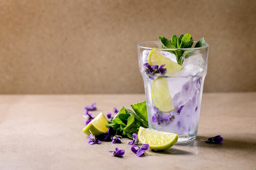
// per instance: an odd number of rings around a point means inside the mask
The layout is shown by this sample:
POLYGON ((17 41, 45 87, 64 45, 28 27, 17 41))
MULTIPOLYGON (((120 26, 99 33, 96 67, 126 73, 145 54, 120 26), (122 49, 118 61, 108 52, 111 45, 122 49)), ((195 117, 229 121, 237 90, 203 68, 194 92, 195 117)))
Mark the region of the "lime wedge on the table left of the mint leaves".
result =
POLYGON ((108 131, 108 128, 105 127, 105 125, 107 124, 108 124, 108 120, 105 118, 105 116, 101 112, 98 116, 96 116, 96 118, 91 120, 91 122, 86 127, 84 127, 82 131, 88 136, 91 133, 94 136, 98 136, 108 131))

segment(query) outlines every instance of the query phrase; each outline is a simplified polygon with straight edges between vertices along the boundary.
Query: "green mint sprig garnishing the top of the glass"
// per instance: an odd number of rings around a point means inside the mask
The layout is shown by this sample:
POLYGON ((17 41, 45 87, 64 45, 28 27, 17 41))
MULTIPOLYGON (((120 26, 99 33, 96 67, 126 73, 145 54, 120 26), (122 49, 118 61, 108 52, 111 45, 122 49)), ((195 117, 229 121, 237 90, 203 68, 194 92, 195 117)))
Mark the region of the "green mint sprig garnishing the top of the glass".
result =
MULTIPOLYGON (((180 48, 193 48, 193 38, 191 34, 181 34, 180 37, 177 35, 173 35, 171 40, 168 40, 164 36, 158 36, 160 42, 162 43, 162 48, 169 48, 169 49, 180 49, 180 48)), ((195 45, 195 47, 203 47, 205 46, 205 39, 201 38, 195 45)), ((189 56, 193 55, 195 51, 189 50, 168 50, 169 52, 173 53, 176 56, 177 63, 182 66, 184 59, 188 58, 189 56)))

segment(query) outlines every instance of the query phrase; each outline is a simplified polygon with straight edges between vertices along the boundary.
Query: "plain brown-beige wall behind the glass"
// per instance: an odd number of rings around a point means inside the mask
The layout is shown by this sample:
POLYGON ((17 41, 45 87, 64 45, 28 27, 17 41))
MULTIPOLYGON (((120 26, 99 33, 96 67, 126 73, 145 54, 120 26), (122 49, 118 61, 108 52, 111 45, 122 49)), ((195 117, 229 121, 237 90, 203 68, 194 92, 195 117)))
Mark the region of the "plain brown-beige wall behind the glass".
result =
POLYGON ((204 92, 256 91, 256 0, 0 0, 0 93, 144 93, 137 43, 210 44, 204 92))

